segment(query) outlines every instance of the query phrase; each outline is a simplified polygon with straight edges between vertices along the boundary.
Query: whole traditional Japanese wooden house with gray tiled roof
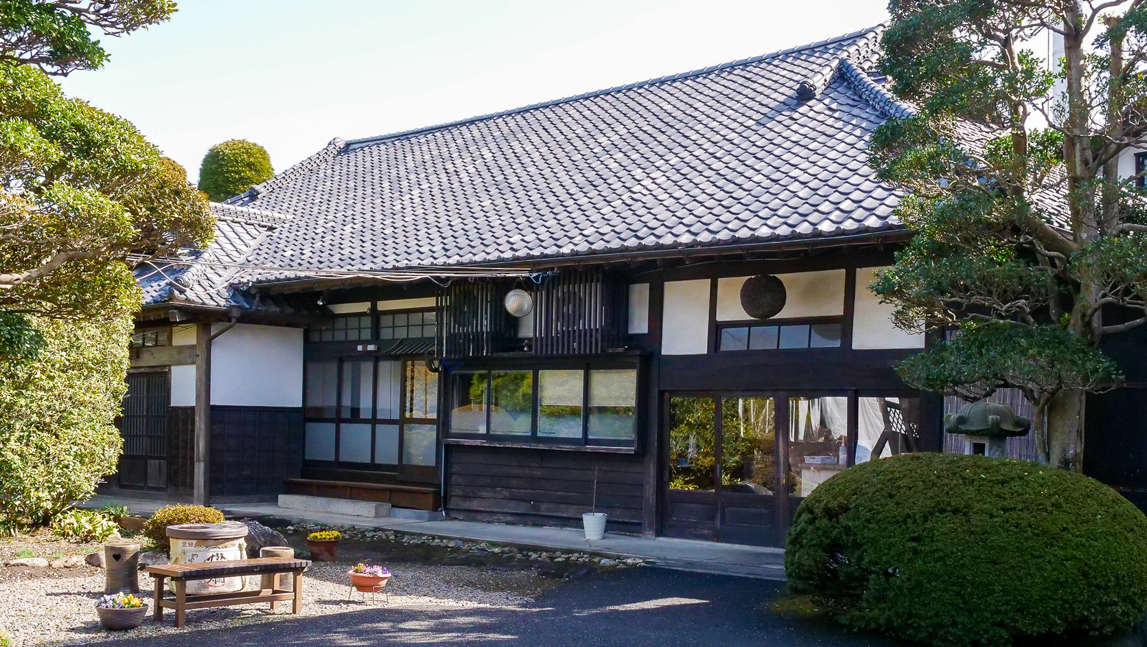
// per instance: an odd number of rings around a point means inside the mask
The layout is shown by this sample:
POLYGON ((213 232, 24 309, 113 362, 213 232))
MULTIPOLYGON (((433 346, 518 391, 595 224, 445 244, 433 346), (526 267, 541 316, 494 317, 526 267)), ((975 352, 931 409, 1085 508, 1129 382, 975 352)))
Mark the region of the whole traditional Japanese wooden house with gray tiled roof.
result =
MULTIPOLYGON (((326 148, 142 266, 109 490, 282 492, 778 545, 859 461, 939 451, 911 235, 867 164, 879 30, 326 148)), ((150 493, 150 494, 149 494, 150 493)))

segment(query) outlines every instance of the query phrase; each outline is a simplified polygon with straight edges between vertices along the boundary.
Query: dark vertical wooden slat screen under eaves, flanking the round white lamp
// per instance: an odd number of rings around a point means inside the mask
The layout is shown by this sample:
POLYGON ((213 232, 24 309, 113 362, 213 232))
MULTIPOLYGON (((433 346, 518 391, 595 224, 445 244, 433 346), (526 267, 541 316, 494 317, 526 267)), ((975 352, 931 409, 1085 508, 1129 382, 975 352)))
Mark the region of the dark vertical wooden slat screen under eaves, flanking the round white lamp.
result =
POLYGON ((536 354, 596 354, 625 346, 629 286, 601 270, 559 272, 539 284, 455 281, 438 297, 440 357, 478 357, 521 350, 517 322, 506 313, 506 293, 533 296, 536 354))

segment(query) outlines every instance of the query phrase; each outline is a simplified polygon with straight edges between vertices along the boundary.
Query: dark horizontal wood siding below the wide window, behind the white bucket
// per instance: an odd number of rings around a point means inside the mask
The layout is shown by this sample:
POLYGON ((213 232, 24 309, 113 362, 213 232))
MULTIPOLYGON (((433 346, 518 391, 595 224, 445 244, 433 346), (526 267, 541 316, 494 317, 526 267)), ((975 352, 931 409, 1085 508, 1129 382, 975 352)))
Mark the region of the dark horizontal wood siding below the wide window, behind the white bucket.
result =
POLYGON ((446 457, 452 516, 578 527, 598 467, 598 512, 609 514, 609 529, 641 531, 642 457, 460 445, 446 457))

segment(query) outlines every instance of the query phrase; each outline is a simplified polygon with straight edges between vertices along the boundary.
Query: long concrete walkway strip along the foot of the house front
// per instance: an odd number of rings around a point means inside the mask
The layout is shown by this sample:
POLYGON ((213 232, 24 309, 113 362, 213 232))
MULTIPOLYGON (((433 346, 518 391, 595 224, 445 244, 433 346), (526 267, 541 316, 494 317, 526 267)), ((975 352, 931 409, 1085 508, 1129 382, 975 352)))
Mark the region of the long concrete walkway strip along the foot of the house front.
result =
MULTIPOLYGON (((320 499, 322 497, 306 497, 320 499)), ((370 506, 385 504, 368 504, 344 499, 328 499, 343 504, 367 504, 370 506)), ((290 502, 290 500, 288 500, 290 502)), ((141 505, 141 501, 95 497, 85 507, 103 507, 106 504, 126 505, 139 513, 150 513, 155 501, 141 505), (134 504, 134 505, 133 505, 134 504), (136 507, 139 506, 139 507, 136 507), (147 508, 151 509, 147 509, 147 508)), ((429 535, 447 539, 469 541, 490 541, 517 548, 578 551, 602 555, 611 559, 640 558, 658 567, 693 572, 710 572, 717 575, 734 575, 760 579, 785 579, 785 551, 762 546, 742 546, 739 544, 719 544, 716 541, 695 541, 690 539, 671 539, 666 537, 646 538, 631 535, 607 532, 598 541, 590 541, 580 529, 541 528, 532 525, 509 525, 502 523, 479 523, 458 520, 403 519, 395 513, 404 514, 400 508, 389 508, 390 516, 374 516, 379 508, 353 508, 370 514, 346 514, 335 512, 340 508, 325 502, 317 507, 326 509, 296 509, 275 504, 233 504, 216 506, 228 517, 271 516, 291 523, 311 523, 326 525, 345 525, 358 528, 379 528, 406 532, 411 535, 429 535)), ((406 510, 424 513, 426 510, 406 510)), ((442 515, 442 513, 429 513, 442 515)))

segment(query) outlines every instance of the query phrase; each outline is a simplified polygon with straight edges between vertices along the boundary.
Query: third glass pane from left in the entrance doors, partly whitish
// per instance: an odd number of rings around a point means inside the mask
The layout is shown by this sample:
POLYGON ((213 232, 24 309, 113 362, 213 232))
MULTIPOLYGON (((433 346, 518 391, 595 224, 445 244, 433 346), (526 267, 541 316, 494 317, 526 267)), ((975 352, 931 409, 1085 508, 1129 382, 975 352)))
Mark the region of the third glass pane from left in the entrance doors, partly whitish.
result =
POLYGON ((848 463, 849 399, 789 398, 789 493, 807 497, 848 463))

